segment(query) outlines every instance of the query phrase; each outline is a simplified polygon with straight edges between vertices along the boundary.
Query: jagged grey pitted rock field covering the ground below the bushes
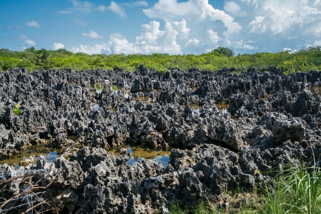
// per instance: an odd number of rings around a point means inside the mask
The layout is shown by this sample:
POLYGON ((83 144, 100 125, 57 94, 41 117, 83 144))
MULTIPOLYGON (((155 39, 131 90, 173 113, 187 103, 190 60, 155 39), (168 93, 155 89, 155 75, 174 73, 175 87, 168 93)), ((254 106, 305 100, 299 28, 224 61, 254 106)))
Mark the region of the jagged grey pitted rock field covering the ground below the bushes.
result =
MULTIPOLYGON (((63 154, 53 163, 42 157, 16 169, 0 165, 0 179, 25 170, 38 170, 46 182, 55 178, 53 199, 68 212, 168 213, 172 200, 193 206, 209 194, 272 181, 291 161, 311 166, 321 154, 321 97, 307 87, 321 85, 321 73, 234 71, 0 73, 1 158, 40 144, 63 154), (100 93, 95 83, 104 87, 100 93), (13 112, 17 103, 20 115, 13 112), (229 104, 228 112, 216 103, 229 104), (168 166, 141 160, 130 167, 125 150, 107 151, 127 144, 175 149, 168 166)), ((0 197, 21 185, 6 184, 0 197)))

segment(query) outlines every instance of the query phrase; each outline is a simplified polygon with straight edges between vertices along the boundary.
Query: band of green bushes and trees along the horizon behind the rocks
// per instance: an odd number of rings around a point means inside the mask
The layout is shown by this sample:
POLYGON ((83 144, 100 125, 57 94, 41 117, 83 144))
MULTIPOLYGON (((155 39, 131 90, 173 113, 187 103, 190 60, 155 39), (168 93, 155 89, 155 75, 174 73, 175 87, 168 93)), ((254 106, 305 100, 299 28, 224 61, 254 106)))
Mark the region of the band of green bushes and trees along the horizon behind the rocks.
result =
POLYGON ((124 71, 134 71, 142 64, 149 69, 166 72, 169 67, 189 70, 197 68, 201 71, 217 71, 224 67, 244 71, 249 67, 258 70, 277 67, 285 74, 297 71, 321 69, 321 47, 307 47, 291 53, 280 51, 275 53, 261 52, 254 54, 238 54, 227 47, 217 47, 206 54, 169 55, 169 54, 93 54, 73 53, 66 49, 36 50, 34 47, 23 51, 0 49, 0 70, 27 67, 35 69, 51 69, 68 67, 73 70, 113 69, 114 66, 124 71))

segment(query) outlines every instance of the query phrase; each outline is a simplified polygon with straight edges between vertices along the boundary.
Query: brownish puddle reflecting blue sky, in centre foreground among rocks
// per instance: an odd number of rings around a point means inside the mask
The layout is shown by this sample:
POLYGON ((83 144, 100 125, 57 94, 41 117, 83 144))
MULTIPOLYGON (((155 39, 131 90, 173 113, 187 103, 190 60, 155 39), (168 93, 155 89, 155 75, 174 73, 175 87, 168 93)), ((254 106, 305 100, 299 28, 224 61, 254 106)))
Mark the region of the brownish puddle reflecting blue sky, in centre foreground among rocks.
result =
MULTIPOLYGON (((119 154, 119 150, 109 150, 109 152, 114 155, 119 154)), ((158 164, 163 166, 167 166, 170 161, 170 151, 155 151, 142 146, 128 146, 127 153, 131 155, 127 162, 130 167, 133 167, 138 161, 143 159, 157 160, 158 164)))

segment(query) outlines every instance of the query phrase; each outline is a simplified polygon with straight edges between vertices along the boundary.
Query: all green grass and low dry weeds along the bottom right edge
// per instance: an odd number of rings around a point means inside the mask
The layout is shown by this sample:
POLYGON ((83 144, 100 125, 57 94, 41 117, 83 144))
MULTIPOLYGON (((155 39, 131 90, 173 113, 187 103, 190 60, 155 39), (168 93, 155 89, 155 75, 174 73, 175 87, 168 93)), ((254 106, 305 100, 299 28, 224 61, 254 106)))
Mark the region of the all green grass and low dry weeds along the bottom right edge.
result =
POLYGON ((209 200, 210 205, 200 201, 193 208, 181 208, 173 202, 170 213, 321 213, 321 168, 317 164, 305 167, 293 162, 279 171, 274 182, 274 190, 268 183, 251 193, 226 193, 229 195, 226 208, 218 208, 221 201, 217 199, 209 200))

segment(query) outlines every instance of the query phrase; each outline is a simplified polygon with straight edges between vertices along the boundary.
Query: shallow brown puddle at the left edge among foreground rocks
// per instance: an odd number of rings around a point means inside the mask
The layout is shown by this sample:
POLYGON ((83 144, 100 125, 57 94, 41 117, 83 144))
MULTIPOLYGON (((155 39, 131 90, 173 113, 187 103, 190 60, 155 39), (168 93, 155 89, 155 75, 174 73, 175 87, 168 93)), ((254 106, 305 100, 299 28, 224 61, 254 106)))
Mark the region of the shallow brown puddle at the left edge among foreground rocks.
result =
POLYGON ((9 164, 13 165, 14 167, 19 167, 19 162, 25 160, 30 157, 30 155, 34 155, 36 161, 40 158, 40 155, 43 155, 46 160, 49 162, 54 162, 56 158, 59 156, 57 155, 57 151, 48 150, 48 148, 32 148, 29 150, 23 151, 21 154, 12 155, 7 158, 0 159, 0 164, 9 164))

